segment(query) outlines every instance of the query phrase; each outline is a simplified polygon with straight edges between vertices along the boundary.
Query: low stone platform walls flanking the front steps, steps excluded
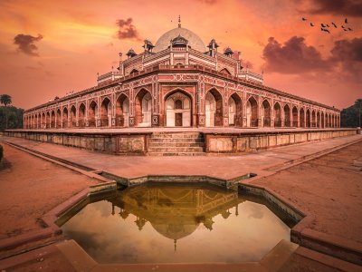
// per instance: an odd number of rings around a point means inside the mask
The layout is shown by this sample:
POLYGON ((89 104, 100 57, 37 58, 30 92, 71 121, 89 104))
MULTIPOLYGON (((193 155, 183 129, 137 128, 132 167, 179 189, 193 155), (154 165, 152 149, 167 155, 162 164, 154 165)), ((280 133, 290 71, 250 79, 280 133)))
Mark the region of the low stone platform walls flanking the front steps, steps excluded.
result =
POLYGON ((205 141, 205 154, 243 154, 268 150, 306 141, 322 141, 356 135, 357 129, 310 129, 276 131, 41 131, 7 130, 0 135, 43 141, 115 155, 146 155, 152 135, 200 133, 205 141))

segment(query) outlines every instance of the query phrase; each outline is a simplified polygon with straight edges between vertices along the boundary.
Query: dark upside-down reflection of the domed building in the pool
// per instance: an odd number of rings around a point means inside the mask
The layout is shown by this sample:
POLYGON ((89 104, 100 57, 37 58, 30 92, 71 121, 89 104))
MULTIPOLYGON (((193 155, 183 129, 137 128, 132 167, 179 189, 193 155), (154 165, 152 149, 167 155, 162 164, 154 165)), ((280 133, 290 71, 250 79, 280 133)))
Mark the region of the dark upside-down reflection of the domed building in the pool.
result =
POLYGON ((219 214, 224 219, 229 218, 232 214, 229 209, 233 207, 238 216, 238 204, 243 202, 233 190, 170 184, 132 187, 108 200, 112 215, 115 207, 120 209, 122 219, 135 215, 134 222, 139 230, 149 222, 159 234, 174 240, 175 250, 176 241, 191 235, 200 224, 213 230, 213 218, 219 214))

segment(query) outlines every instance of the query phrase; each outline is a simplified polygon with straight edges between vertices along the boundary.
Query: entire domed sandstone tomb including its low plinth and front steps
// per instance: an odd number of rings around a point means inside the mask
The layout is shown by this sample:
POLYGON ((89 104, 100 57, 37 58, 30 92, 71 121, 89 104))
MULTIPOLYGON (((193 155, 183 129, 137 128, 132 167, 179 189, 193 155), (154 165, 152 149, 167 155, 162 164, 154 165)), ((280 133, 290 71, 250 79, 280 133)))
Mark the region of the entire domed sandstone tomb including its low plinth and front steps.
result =
POLYGON ((243 153, 356 134, 340 112, 263 84, 241 54, 178 27, 119 53, 97 85, 24 113, 5 134, 112 154, 243 153))

